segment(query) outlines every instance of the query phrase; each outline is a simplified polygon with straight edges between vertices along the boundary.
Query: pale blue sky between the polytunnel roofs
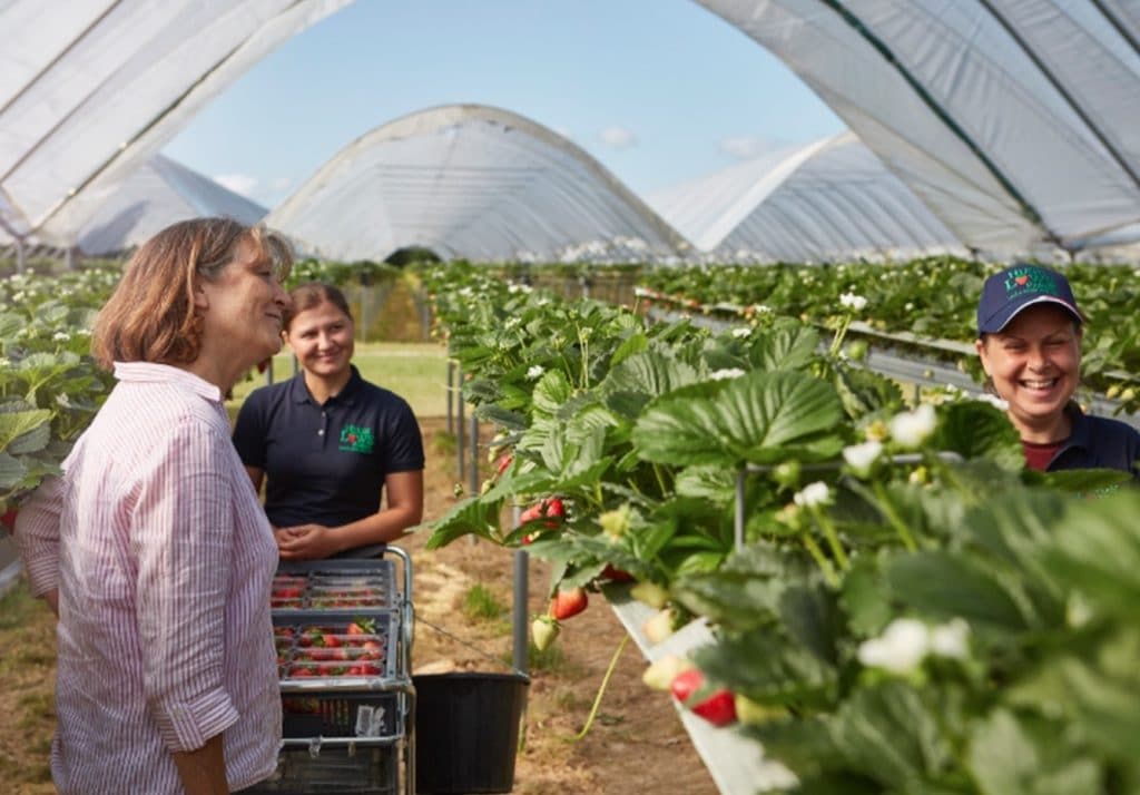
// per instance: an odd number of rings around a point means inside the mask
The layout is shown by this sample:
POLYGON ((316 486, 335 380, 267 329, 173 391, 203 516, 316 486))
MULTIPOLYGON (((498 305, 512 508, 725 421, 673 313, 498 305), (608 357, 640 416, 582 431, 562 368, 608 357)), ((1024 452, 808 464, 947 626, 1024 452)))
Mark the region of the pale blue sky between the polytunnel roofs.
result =
POLYGON ((250 70, 164 153, 272 206, 369 130, 451 103, 544 124, 642 195, 844 129, 692 0, 357 0, 250 70))

